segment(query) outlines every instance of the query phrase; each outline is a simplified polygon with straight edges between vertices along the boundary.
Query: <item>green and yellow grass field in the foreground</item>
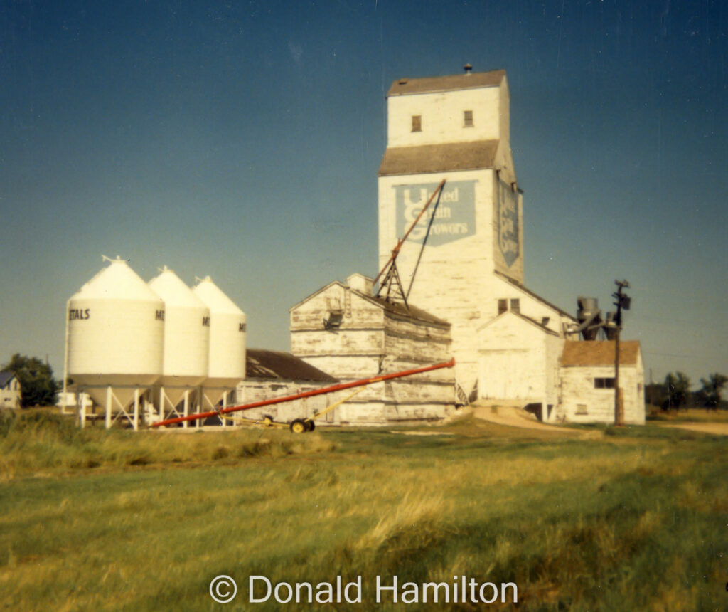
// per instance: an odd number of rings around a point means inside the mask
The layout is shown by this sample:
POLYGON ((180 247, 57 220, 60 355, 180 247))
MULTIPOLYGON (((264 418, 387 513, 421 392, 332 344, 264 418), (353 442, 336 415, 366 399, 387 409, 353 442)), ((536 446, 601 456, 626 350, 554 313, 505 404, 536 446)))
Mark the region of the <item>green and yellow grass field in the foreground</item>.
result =
MULTIPOLYGON (((579 431, 583 431, 581 428, 579 431)), ((0 421, 0 606, 13 611, 728 609, 727 439, 647 425, 549 438, 79 431, 0 421), (215 603, 220 574, 237 598, 215 603), (248 603, 362 577, 363 603, 248 603), (386 584, 513 582, 518 604, 393 604, 386 584)))

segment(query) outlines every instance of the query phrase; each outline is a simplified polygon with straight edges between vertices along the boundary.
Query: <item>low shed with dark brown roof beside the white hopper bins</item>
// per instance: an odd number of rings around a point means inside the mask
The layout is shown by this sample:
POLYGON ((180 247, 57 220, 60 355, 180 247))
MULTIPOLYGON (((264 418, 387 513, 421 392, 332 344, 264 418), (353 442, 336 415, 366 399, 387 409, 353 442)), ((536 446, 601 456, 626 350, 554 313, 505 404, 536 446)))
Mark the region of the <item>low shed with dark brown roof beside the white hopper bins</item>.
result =
MULTIPOLYGON (((237 404, 252 404, 254 401, 296 395, 339 382, 333 376, 306 364, 302 359, 277 350, 249 348, 245 361, 245 380, 238 383, 235 390, 237 404)), ((314 411, 320 412, 327 405, 326 396, 314 396, 235 412, 232 416, 261 420, 264 415, 268 415, 274 420, 288 423, 293 419, 309 417, 314 411)), ((331 422, 333 412, 327 416, 328 419, 322 418, 325 422, 331 422)))

